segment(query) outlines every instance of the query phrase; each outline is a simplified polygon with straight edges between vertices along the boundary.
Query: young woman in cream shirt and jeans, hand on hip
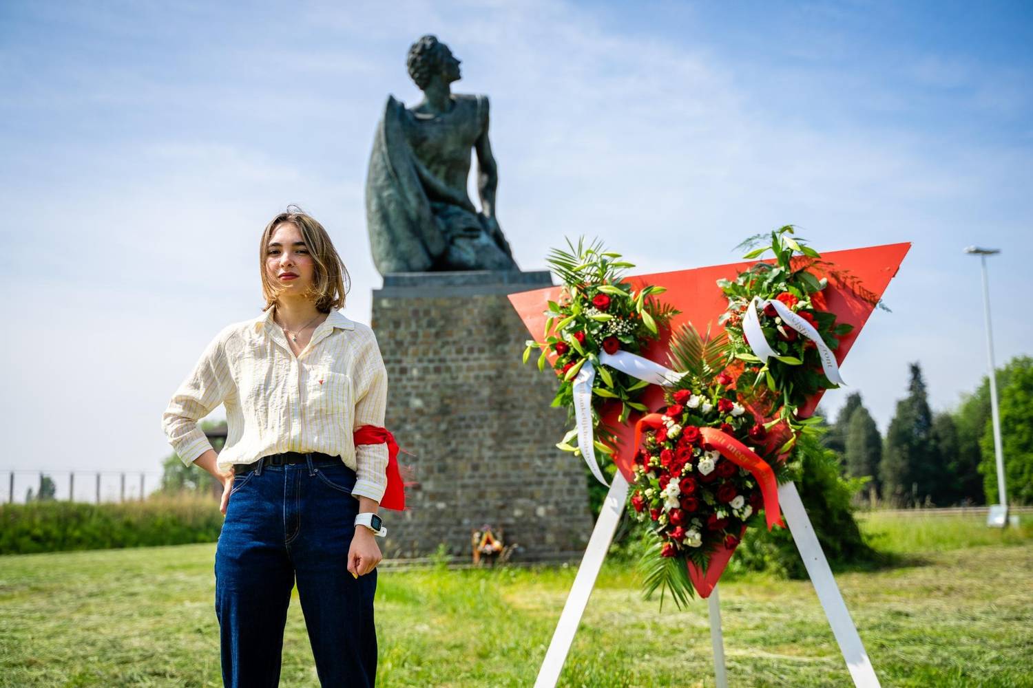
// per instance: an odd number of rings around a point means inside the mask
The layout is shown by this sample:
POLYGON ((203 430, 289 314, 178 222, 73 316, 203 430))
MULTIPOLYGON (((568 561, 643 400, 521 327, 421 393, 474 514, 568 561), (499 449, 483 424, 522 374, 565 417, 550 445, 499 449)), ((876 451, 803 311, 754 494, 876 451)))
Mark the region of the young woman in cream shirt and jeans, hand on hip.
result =
POLYGON ((162 416, 184 463, 223 485, 223 682, 278 685, 296 578, 320 683, 372 686, 388 452, 353 431, 383 425, 386 371, 373 331, 338 312, 348 273, 318 222, 288 208, 267 225, 259 255, 262 314, 216 335, 162 416), (220 403, 227 434, 217 455, 197 421, 220 403))

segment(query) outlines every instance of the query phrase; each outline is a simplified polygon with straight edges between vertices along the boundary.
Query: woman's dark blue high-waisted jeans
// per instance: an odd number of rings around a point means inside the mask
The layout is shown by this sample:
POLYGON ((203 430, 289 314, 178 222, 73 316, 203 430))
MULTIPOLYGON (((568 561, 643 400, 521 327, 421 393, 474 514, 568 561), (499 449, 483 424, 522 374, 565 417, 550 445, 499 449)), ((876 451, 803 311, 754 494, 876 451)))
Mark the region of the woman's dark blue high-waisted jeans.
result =
POLYGON ((358 499, 339 459, 259 465, 238 474, 215 552, 222 680, 277 686, 290 591, 305 615, 322 686, 372 686, 377 670, 377 571, 348 572, 358 499))

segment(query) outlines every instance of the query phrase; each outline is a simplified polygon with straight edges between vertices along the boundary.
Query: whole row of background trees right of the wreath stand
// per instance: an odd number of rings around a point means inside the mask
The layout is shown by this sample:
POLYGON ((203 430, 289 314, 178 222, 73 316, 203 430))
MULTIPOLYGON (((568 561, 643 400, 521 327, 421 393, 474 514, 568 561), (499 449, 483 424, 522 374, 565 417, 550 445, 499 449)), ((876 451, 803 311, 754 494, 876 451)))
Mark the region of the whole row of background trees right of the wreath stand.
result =
MULTIPOLYGON (((1033 358, 1019 356, 996 371, 1008 501, 1033 502, 1033 358)), ((918 363, 886 435, 860 394, 850 394, 823 441, 844 474, 867 478, 866 490, 893 506, 996 503, 997 467, 990 379, 950 411, 933 413, 918 363)))

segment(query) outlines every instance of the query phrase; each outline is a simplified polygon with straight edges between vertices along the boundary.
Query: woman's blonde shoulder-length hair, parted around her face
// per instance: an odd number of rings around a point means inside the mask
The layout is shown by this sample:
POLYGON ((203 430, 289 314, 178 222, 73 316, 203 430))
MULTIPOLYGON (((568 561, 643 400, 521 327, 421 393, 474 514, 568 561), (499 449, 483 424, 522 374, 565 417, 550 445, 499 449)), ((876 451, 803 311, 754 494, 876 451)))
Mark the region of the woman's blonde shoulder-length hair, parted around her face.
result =
POLYGON ((302 240, 308 247, 315 263, 315 274, 306 296, 312 299, 320 313, 344 307, 344 300, 351 289, 351 277, 348 268, 344 266, 341 257, 330 239, 330 234, 315 218, 302 210, 296 205, 288 205, 286 211, 279 214, 265 225, 258 243, 258 265, 261 273, 261 291, 265 297, 262 310, 276 305, 284 288, 270 281, 265 273, 265 255, 269 243, 273 240, 273 232, 282 224, 291 224, 302 232, 302 240))

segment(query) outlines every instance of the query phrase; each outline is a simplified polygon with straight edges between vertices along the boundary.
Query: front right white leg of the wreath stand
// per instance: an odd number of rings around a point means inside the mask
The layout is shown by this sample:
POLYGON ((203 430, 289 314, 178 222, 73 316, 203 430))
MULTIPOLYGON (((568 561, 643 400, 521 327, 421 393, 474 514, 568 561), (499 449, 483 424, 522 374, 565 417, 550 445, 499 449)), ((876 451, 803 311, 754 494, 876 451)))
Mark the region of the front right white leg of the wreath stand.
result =
POLYGON ((853 625, 846 602, 843 601, 843 595, 836 585, 833 571, 828 568, 828 560, 825 559, 825 553, 821 551, 818 537, 814 534, 814 528, 804 510, 804 502, 800 499, 796 486, 792 483, 783 483, 778 489, 778 499, 785 520, 789 524, 792 539, 796 543, 800 556, 804 559, 807 575, 811 577, 811 583, 818 593, 818 600, 825 611, 828 625, 832 626, 836 642, 839 643, 846 666, 850 669, 853 684, 864 688, 878 688, 879 680, 875 676, 875 669, 868 659, 868 653, 865 652, 860 635, 857 634, 857 627, 853 625))

